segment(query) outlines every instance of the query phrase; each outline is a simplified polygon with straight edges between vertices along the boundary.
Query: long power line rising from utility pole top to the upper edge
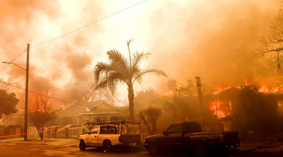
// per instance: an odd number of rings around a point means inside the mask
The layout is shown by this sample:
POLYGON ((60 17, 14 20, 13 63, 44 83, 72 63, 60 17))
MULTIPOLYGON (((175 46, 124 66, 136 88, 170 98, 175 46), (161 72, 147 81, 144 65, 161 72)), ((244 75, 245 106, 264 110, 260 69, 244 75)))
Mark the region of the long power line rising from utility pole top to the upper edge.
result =
POLYGON ((81 28, 76 28, 75 30, 71 30, 71 31, 69 31, 68 33, 64 33, 64 34, 62 34, 62 35, 59 35, 58 37, 54 37, 54 38, 52 38, 52 39, 50 39, 50 40, 47 40, 47 41, 45 41, 45 42, 41 42, 40 44, 37 44, 37 45, 35 45, 35 46, 33 46, 33 47, 30 47, 30 48, 35 48, 35 47, 38 47, 38 46, 40 46, 40 45, 44 45, 44 44, 46 44, 47 42, 51 42, 51 41, 53 41, 53 40, 57 40, 57 39, 59 39, 60 37, 64 37, 64 36, 66 36, 66 35, 69 35, 69 34, 71 34, 71 33, 76 32, 76 31, 78 31, 78 30, 81 30, 81 29, 83 29, 83 28, 86 28, 86 27, 88 27, 88 26, 90 26, 90 25, 93 25, 93 24, 96 24, 96 23, 98 23, 98 22, 100 22, 100 21, 103 21, 103 20, 105 20, 106 18, 110 18, 111 16, 115 16, 116 14, 121 13, 122 11, 126 11, 126 10, 128 10, 129 8, 132 8, 132 7, 137 6, 137 5, 139 5, 139 4, 142 4, 142 3, 144 3, 145 1, 147 1, 147 0, 139 1, 137 4, 134 4, 134 5, 132 5, 132 6, 128 6, 127 8, 123 8, 122 10, 117 11, 117 12, 115 12, 115 13, 112 13, 112 14, 110 14, 109 16, 106 16, 106 17, 104 17, 104 18, 101 18, 101 19, 98 20, 98 21, 94 21, 93 23, 89 23, 88 25, 83 25, 81 28))

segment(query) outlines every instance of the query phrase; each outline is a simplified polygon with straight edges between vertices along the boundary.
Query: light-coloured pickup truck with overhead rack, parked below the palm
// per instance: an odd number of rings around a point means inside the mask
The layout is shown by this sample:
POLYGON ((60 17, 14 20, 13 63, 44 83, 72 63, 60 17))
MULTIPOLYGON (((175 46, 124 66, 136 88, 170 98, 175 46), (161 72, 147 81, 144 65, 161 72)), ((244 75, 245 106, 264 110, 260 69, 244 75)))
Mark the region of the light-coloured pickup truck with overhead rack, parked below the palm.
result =
MULTIPOLYGON (((113 146, 137 146, 140 143, 140 123, 138 121, 114 121, 93 123, 89 132, 79 137, 79 149, 96 146, 103 151, 111 151, 113 146), (94 124, 94 125, 93 125, 94 124)), ((87 125, 87 124, 86 124, 87 125)))

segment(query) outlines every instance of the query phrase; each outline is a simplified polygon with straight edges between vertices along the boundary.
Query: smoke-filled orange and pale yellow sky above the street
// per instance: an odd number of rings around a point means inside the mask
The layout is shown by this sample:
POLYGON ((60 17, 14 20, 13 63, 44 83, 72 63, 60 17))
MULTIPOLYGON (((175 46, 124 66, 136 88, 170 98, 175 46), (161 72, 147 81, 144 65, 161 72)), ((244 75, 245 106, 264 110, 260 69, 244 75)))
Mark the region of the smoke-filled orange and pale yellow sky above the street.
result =
MULTIPOLYGON (((132 38, 132 52, 151 53, 143 66, 168 75, 145 76, 136 92, 151 87, 164 93, 169 79, 185 85, 195 76, 215 88, 245 81, 276 83, 270 61, 253 51, 268 34, 281 1, 140 1, 2 0, 0 61, 11 62, 30 43, 30 90, 58 88, 64 92, 56 97, 64 100, 88 88, 93 67, 107 62, 108 50, 128 57, 132 38)), ((23 53, 14 63, 25 68, 25 59, 23 53)), ((25 71, 7 64, 0 69, 0 79, 12 78, 24 87, 25 71)), ((118 86, 121 99, 127 98, 126 91, 118 86)))

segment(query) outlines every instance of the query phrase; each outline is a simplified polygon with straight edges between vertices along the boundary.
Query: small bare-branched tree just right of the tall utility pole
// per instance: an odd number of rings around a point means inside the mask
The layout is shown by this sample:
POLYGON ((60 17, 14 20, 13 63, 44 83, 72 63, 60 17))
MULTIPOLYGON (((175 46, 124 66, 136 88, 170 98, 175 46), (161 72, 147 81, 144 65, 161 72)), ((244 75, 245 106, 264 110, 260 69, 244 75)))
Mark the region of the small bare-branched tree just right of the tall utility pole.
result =
POLYGON ((45 124, 56 117, 54 107, 52 103, 50 103, 50 97, 44 95, 42 92, 35 96, 33 104, 30 105, 28 110, 28 115, 33 124, 35 124, 40 139, 42 140, 45 124))

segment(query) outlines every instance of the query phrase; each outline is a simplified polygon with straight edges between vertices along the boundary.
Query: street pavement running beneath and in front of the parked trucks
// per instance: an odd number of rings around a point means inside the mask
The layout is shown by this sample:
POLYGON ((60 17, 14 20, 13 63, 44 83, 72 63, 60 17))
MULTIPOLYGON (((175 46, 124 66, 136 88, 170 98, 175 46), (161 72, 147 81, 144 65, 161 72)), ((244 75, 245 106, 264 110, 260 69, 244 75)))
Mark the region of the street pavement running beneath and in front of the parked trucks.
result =
MULTIPOLYGON (((87 148, 86 151, 80 151, 79 147, 76 146, 76 143, 71 145, 59 145, 56 144, 49 145, 48 140, 35 140, 35 141, 9 141, 0 143, 0 156, 9 157, 9 156, 21 156, 21 157, 37 157, 37 156, 64 156, 64 157, 79 157, 79 156, 150 156, 149 153, 142 147, 134 148, 126 151, 115 149, 111 152, 104 153, 100 149, 96 148, 87 148)), ((54 143, 54 142, 53 142, 54 143)), ((248 148, 248 147, 247 147, 248 148)), ((251 147, 250 147, 251 148, 251 147)), ((274 148, 273 148, 274 149, 274 148)), ((209 153, 209 156, 229 156, 229 157, 246 157, 246 156, 282 156, 283 152, 277 148, 279 152, 272 152, 264 150, 263 151, 254 151, 254 150, 244 150, 240 149, 237 154, 231 155, 226 154, 221 151, 212 151, 209 153)), ((159 156, 172 156, 172 157, 194 157, 192 153, 187 152, 163 152, 159 156)))

